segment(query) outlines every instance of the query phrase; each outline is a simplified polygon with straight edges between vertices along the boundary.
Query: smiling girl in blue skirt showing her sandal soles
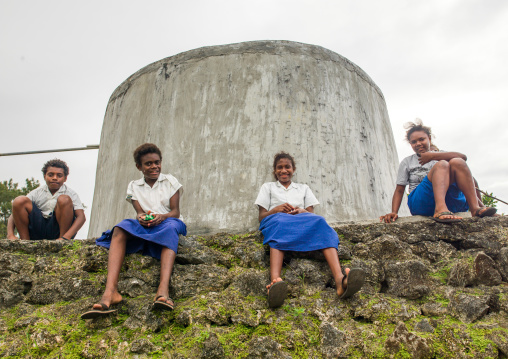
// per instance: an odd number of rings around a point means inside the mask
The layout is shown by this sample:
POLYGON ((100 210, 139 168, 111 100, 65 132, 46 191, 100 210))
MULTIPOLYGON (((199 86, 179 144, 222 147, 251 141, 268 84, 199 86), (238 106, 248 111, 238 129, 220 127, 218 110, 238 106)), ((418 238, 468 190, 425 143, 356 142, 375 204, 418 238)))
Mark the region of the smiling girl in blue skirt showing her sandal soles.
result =
POLYGON ((346 268, 342 274, 337 253, 339 237, 323 217, 313 213, 319 202, 309 186, 291 181, 295 170, 291 155, 276 154, 273 174, 277 182, 263 184, 255 202, 263 244, 270 246, 271 283, 266 286, 270 308, 280 307, 287 295, 287 284, 281 278, 285 251, 323 252, 341 299, 358 292, 365 280, 365 272, 359 268, 346 268))

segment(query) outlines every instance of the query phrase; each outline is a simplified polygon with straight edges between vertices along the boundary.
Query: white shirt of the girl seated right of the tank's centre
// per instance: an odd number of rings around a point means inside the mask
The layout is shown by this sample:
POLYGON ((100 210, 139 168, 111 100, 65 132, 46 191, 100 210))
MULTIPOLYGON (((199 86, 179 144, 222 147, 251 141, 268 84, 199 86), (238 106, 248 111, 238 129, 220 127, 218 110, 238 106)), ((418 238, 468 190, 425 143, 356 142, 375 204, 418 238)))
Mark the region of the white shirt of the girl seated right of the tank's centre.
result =
POLYGON ((277 181, 264 183, 254 204, 271 211, 284 203, 305 209, 309 206, 318 205, 319 201, 306 184, 291 182, 286 188, 277 181))

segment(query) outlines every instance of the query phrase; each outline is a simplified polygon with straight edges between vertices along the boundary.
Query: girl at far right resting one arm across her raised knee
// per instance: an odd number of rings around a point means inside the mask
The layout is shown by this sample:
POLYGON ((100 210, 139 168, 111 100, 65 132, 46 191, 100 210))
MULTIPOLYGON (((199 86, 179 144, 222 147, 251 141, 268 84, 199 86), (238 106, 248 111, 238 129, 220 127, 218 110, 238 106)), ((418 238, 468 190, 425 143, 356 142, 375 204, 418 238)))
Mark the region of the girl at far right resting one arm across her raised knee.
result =
POLYGON ((433 151, 431 129, 419 119, 408 123, 406 128, 406 140, 415 154, 404 158, 399 165, 392 211, 379 217, 382 222, 392 223, 398 218, 407 185, 407 204, 413 216, 431 216, 437 222, 453 223, 462 220, 456 212, 468 209, 473 217, 496 214, 495 208, 485 207, 478 199, 476 180, 464 154, 433 151))

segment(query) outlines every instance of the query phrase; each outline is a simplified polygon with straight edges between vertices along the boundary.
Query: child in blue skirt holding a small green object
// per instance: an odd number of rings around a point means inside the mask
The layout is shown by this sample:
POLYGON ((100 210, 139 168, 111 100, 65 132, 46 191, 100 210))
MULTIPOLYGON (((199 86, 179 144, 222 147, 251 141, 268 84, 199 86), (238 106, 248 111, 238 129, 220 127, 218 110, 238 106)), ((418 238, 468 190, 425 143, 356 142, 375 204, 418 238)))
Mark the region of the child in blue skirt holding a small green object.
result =
POLYGON ((97 245, 109 248, 106 289, 100 303, 83 313, 82 319, 116 311, 110 307, 122 300, 118 278, 125 254, 139 251, 161 261, 160 283, 153 307, 161 310, 174 307, 169 298, 169 281, 178 249, 178 235, 186 235, 187 228, 180 216, 182 185, 172 175, 161 173, 161 160, 161 151, 152 143, 145 143, 134 151, 136 167, 143 177, 129 183, 127 201, 137 216, 136 219, 124 219, 112 232, 107 231, 97 239, 97 245))

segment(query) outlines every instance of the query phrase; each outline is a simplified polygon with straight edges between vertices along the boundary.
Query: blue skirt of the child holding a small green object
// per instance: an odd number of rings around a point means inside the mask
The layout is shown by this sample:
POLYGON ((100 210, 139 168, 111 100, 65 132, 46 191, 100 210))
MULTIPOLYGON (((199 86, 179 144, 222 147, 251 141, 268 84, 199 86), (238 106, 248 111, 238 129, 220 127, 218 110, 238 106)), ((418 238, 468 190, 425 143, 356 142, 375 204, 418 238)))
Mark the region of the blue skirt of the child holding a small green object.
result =
MULTIPOLYGON (((127 254, 142 251, 143 255, 159 260, 163 247, 177 253, 178 236, 187 234, 187 226, 177 218, 166 218, 155 227, 143 227, 136 219, 124 219, 115 227, 122 228, 131 235, 127 240, 127 254)), ((115 227, 102 233, 102 236, 95 240, 95 244, 109 249, 115 227)))

